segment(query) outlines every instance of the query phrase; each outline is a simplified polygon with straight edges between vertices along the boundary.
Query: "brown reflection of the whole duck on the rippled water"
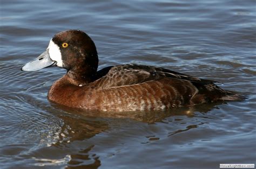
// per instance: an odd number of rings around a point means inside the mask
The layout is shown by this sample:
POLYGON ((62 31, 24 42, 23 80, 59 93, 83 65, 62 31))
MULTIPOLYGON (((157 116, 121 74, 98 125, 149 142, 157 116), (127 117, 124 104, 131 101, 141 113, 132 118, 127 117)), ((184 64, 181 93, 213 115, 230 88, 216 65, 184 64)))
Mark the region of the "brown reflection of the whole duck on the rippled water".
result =
MULTIPOLYGON (((136 121, 149 124, 157 122, 166 123, 166 119, 169 119, 169 124, 167 125, 172 125, 171 123, 173 121, 170 119, 174 119, 174 121, 180 120, 176 119, 176 116, 179 118, 184 117, 193 119, 194 117, 200 117, 211 119, 212 117, 207 117, 206 113, 214 108, 217 108, 217 104, 218 103, 201 104, 194 107, 184 107, 165 111, 141 112, 87 112, 54 105, 55 108, 61 108, 67 113, 65 113, 65 115, 58 115, 58 117, 63 120, 62 131, 59 132, 58 141, 53 143, 51 146, 57 147, 58 149, 69 149, 69 147, 72 149, 72 146, 78 146, 77 144, 73 145, 74 142, 84 141, 108 130, 110 128, 109 124, 112 120, 114 121, 115 118, 131 118, 136 121)), ((173 131, 166 133, 166 137, 172 137, 178 133, 198 128, 203 124, 204 122, 199 121, 192 121, 192 124, 176 124, 173 131), (186 126, 185 129, 184 125, 186 126)), ((85 144, 86 142, 83 143, 85 144)), ((71 151, 71 153, 69 153, 70 158, 66 168, 98 168, 101 165, 100 157, 97 156, 97 154, 90 152, 94 146, 95 145, 89 145, 86 147, 86 149, 80 149, 76 152, 71 151)))

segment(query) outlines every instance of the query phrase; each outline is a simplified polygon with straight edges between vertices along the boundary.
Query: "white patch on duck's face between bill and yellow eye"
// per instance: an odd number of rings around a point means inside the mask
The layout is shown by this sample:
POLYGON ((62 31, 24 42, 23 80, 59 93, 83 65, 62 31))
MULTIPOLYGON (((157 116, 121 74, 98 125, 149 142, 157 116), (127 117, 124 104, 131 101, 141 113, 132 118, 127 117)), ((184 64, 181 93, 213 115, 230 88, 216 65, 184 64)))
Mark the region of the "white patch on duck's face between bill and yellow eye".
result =
POLYGON ((49 55, 51 60, 56 61, 57 62, 56 65, 58 67, 63 67, 62 53, 60 53, 59 46, 56 45, 52 41, 52 39, 50 40, 50 43, 47 49, 49 49, 49 55))

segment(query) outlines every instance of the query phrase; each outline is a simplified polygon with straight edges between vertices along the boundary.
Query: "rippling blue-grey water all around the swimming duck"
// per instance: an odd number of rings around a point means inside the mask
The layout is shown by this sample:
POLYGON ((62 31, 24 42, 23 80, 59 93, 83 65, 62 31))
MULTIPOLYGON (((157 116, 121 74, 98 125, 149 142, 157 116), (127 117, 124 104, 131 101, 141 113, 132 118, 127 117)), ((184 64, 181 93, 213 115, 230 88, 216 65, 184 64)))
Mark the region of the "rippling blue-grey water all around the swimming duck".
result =
POLYGON ((255 1, 6 1, 0 7, 1 168, 219 168, 255 163, 255 1), (223 82, 245 101, 137 114, 49 103, 64 69, 21 72, 80 29, 99 68, 145 64, 223 82))

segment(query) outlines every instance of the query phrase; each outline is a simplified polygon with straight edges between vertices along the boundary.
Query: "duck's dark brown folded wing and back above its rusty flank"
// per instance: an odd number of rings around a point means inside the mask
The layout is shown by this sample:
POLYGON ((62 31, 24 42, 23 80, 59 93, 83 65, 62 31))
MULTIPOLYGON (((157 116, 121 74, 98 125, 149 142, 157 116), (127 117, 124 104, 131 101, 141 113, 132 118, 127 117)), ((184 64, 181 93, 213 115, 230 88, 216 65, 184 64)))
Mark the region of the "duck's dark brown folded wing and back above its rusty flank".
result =
POLYGON ((101 89, 135 85, 147 81, 157 81, 164 78, 183 79, 194 83, 200 83, 202 85, 215 82, 170 71, 165 68, 133 64, 106 67, 98 71, 97 75, 99 79, 93 82, 92 85, 101 89))

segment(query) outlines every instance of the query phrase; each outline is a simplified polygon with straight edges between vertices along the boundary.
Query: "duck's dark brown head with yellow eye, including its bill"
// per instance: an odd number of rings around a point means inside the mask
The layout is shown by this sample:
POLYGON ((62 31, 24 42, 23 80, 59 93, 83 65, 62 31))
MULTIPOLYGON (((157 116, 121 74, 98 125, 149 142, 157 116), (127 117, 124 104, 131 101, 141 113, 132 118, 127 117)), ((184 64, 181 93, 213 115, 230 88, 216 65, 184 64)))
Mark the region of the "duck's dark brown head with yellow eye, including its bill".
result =
POLYGON ((92 39, 83 31, 68 30, 55 34, 38 58, 22 66, 22 71, 57 66, 73 73, 95 74, 98 55, 92 39))

